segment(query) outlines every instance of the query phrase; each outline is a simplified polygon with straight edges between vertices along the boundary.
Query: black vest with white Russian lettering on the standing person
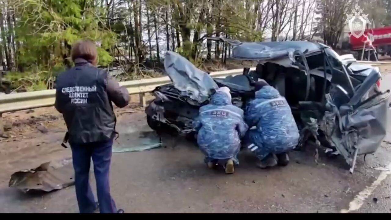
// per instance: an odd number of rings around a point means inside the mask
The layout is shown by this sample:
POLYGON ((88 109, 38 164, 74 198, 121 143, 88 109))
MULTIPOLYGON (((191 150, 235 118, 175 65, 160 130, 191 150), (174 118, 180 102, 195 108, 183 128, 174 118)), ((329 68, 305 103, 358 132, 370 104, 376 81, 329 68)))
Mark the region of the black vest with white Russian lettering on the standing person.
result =
POLYGON ((68 128, 70 144, 108 141, 115 114, 106 92, 108 73, 80 63, 57 77, 56 102, 68 128))

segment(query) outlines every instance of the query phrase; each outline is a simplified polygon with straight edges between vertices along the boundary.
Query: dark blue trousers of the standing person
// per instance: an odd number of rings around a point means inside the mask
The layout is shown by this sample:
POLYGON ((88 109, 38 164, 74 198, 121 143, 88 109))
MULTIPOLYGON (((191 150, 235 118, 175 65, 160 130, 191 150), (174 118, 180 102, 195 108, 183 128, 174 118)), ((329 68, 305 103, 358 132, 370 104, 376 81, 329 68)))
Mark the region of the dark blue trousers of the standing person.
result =
POLYGON ((96 204, 88 177, 91 158, 94 165, 95 180, 100 213, 117 213, 115 202, 110 195, 109 168, 113 140, 88 144, 71 144, 75 170, 75 188, 80 213, 92 213, 96 204))

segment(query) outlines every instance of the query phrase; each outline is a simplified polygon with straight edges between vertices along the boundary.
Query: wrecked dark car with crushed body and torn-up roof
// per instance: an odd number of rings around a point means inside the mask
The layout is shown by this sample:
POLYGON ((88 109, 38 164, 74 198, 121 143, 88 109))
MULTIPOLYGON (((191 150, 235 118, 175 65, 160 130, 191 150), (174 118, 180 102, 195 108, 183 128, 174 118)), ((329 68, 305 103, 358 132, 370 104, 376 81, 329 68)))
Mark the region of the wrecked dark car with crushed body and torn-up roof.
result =
POLYGON ((212 79, 179 54, 167 52, 165 71, 172 84, 156 87, 147 106, 147 122, 157 131, 192 133, 199 107, 215 89, 231 89, 233 105, 244 108, 253 84, 264 79, 287 99, 300 129, 298 149, 307 141, 343 155, 353 172, 357 155, 374 153, 386 135, 389 90, 380 91, 377 67, 339 56, 330 47, 308 41, 225 41, 232 58, 257 61, 243 74, 212 79))

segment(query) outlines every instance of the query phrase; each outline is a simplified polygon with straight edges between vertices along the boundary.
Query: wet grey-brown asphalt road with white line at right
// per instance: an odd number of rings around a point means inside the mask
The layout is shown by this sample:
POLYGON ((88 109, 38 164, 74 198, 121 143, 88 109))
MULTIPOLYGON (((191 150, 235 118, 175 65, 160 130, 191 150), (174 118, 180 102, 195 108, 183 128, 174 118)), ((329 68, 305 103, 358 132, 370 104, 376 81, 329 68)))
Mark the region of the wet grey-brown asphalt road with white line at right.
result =
MULTIPOLYGON (((391 88, 391 74, 382 81, 386 87, 391 88)), ((134 126, 145 126, 144 114, 124 115, 118 123, 124 135, 134 126)), ((58 143, 62 135, 43 138, 58 143)), ((360 156, 353 174, 343 158, 321 155, 317 164, 309 148, 292 152, 287 167, 271 170, 256 168, 255 157, 244 151, 233 175, 208 170, 194 144, 169 138, 163 143, 154 150, 113 154, 111 189, 118 208, 127 213, 391 213, 391 144, 386 142, 366 161, 360 156)), ((61 150, 57 157, 69 153, 61 150)), ((15 163, 27 166, 45 159, 34 156, 15 163)), ((30 195, 8 188, 4 178, 1 213, 78 211, 74 187, 30 195)), ((93 189, 94 185, 91 174, 93 189)))

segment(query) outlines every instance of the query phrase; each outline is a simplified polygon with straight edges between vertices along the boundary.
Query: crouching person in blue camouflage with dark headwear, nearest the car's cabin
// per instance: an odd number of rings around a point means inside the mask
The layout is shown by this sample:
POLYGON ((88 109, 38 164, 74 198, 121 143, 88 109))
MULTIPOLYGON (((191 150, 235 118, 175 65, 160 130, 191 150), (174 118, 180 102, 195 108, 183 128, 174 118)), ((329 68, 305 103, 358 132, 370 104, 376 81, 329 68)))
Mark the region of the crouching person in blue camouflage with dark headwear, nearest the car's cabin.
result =
POLYGON ((247 105, 245 121, 256 129, 246 133, 246 147, 260 160, 259 168, 286 166, 287 151, 292 150, 299 139, 291 108, 278 90, 265 81, 258 81, 255 91, 255 99, 247 105))

